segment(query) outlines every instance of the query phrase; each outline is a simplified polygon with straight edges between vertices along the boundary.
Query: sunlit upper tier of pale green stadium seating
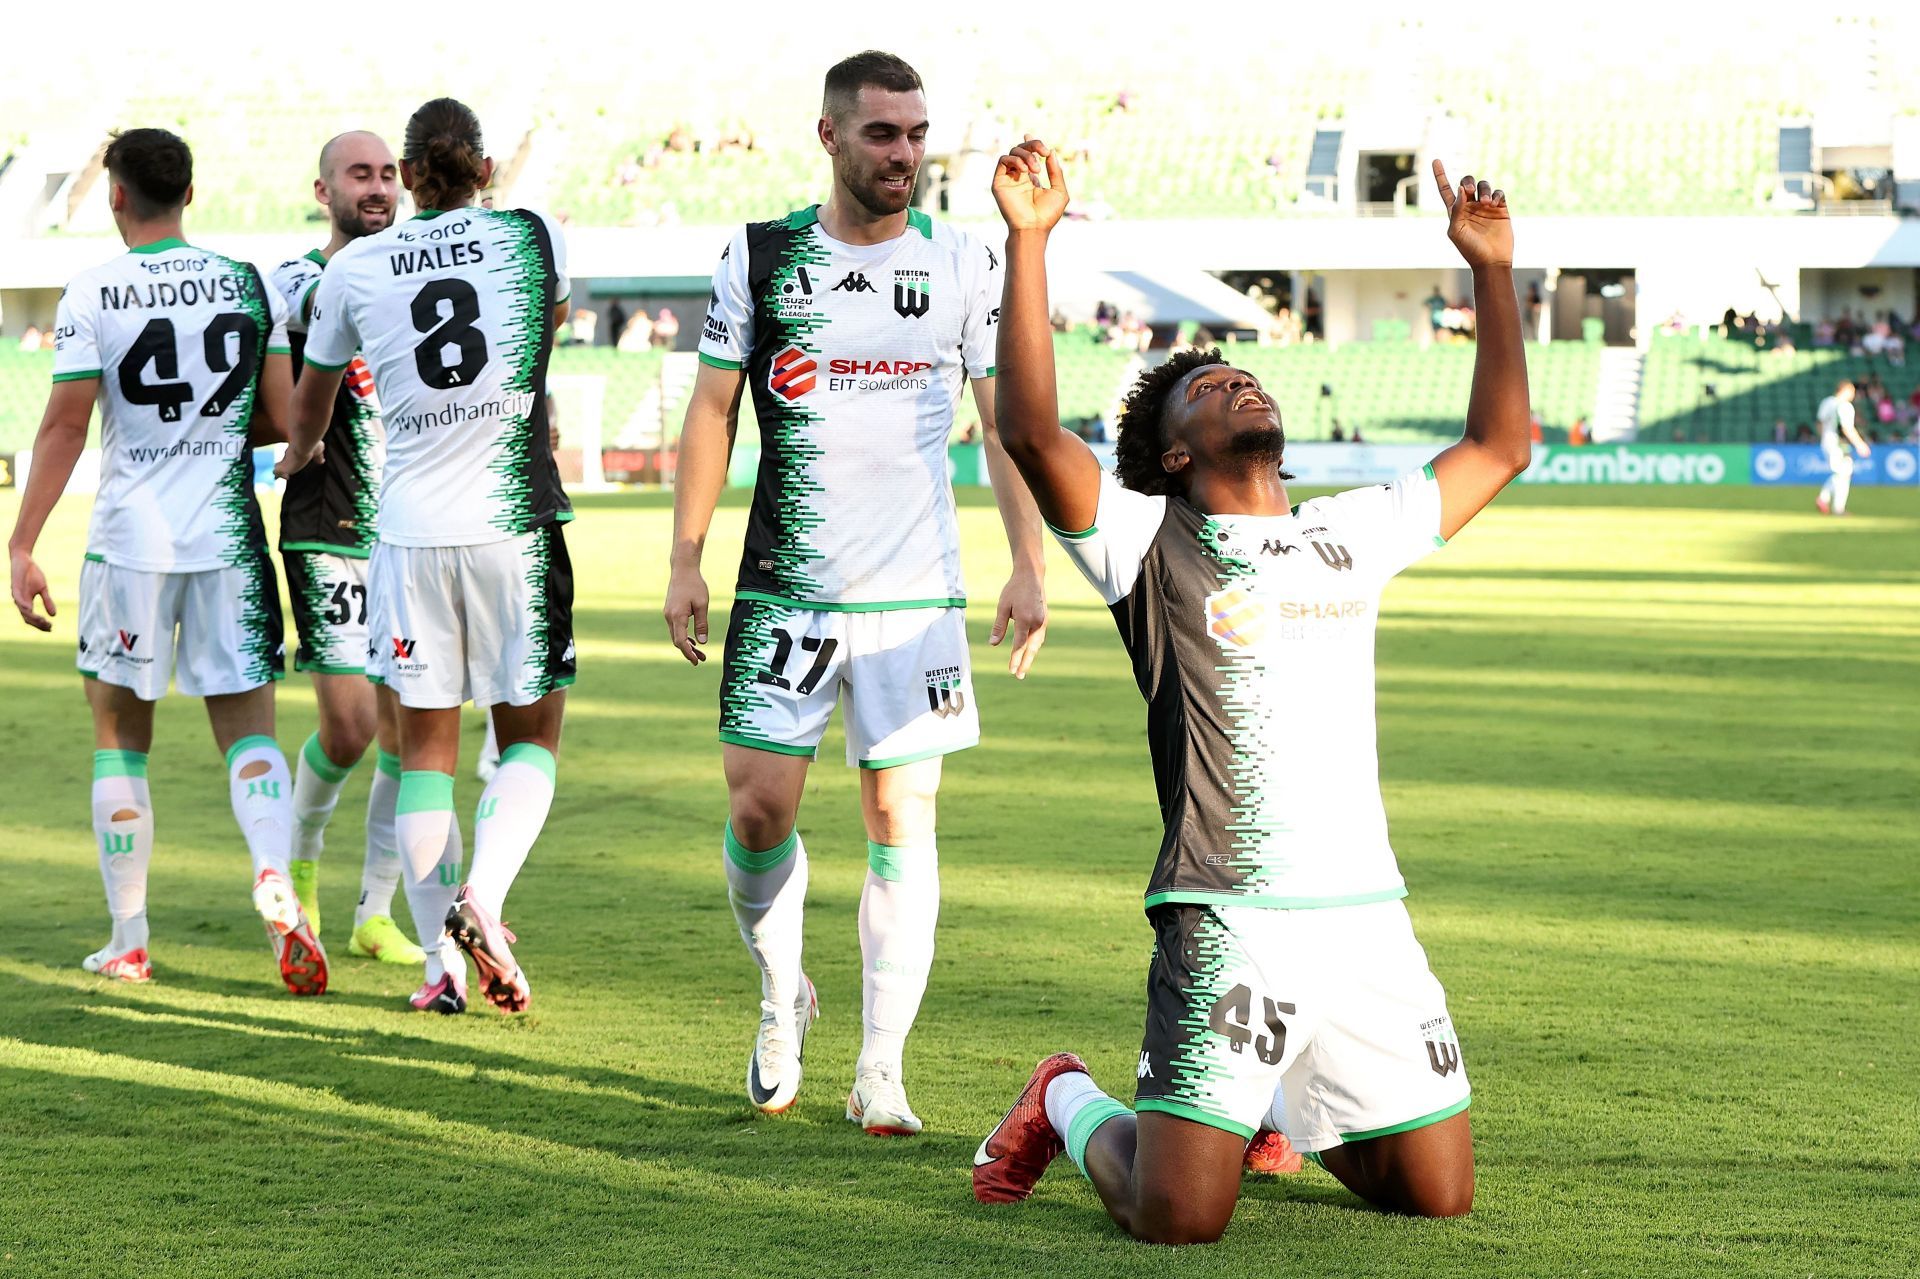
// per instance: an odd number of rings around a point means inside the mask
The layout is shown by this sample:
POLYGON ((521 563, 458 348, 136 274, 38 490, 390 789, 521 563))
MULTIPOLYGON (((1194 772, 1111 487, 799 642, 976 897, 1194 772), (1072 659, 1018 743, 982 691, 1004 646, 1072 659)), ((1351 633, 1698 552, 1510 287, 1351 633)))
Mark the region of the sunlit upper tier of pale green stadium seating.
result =
MULTIPOLYGON (((1127 219, 1323 213, 1329 205, 1304 194, 1317 127, 1405 150, 1432 127, 1528 213, 1763 213, 1782 119, 1859 88, 1862 75, 1891 109, 1920 108, 1895 17, 1807 15, 1795 58, 1780 58, 1780 29, 1759 13, 1670 21, 1670 38, 1634 35, 1630 77, 1605 50, 1542 60, 1528 35, 1503 46, 1486 31, 1469 38, 1417 19, 1313 42, 1281 25, 1248 29, 1236 33, 1248 75, 1223 75, 1215 42, 1142 42, 1127 23, 1087 25, 1071 48, 1050 46, 1044 77, 1002 56, 1021 42, 1012 31, 960 29, 916 58, 943 111, 935 154, 993 154, 1041 129, 1075 156, 1081 209, 1127 219), (1500 75, 1463 77, 1463 60, 1500 75), (1649 83, 1674 90, 1647 94, 1649 83)), ((1607 48, 1626 40, 1603 23, 1586 36, 1611 38, 1607 48)), ((737 58, 732 40, 720 23, 682 38, 672 60, 622 38, 520 61, 444 48, 413 79, 374 61, 284 58, 275 75, 217 96, 182 88, 165 60, 131 61, 79 92, 98 96, 104 117, 188 136, 202 173, 194 227, 205 232, 315 221, 307 182, 319 142, 365 125, 397 144, 422 86, 457 86, 480 111, 493 154, 522 175, 516 200, 589 227, 726 225, 826 194, 812 96, 828 46, 843 44, 822 36, 768 73, 714 75, 737 58)), ((27 108, 0 117, 0 150, 56 119, 27 108)))

